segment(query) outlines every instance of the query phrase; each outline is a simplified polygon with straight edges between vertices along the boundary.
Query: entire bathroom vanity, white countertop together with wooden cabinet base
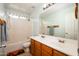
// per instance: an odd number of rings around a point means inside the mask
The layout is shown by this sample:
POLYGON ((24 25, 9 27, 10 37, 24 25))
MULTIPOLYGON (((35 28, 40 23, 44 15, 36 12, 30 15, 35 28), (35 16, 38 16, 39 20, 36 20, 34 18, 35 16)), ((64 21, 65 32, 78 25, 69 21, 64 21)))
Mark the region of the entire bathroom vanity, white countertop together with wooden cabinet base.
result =
POLYGON ((78 55, 76 40, 69 40, 62 38, 60 39, 59 37, 52 37, 48 35, 44 35, 44 36, 45 37, 42 37, 41 35, 31 37, 30 52, 33 56, 77 56, 78 55))

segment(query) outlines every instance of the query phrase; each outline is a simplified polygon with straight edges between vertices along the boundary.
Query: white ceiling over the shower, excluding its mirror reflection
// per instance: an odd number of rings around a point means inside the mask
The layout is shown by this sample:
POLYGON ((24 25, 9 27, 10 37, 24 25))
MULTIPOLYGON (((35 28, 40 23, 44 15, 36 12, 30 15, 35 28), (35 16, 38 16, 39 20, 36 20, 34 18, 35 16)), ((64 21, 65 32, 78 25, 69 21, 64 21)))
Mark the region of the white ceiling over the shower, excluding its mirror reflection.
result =
POLYGON ((8 7, 11 9, 25 12, 27 14, 31 14, 35 11, 35 9, 39 8, 42 5, 42 3, 9 3, 8 7))

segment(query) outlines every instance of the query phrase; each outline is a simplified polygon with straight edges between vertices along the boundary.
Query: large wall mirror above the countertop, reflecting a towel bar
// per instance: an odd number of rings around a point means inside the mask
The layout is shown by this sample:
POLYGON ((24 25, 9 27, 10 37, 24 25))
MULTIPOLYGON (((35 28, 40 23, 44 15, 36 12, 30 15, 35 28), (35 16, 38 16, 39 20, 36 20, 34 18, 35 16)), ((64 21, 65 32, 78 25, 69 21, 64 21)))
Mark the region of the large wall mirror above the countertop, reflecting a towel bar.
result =
POLYGON ((77 39, 78 19, 75 17, 75 3, 55 3, 44 9, 40 15, 41 33, 77 39))

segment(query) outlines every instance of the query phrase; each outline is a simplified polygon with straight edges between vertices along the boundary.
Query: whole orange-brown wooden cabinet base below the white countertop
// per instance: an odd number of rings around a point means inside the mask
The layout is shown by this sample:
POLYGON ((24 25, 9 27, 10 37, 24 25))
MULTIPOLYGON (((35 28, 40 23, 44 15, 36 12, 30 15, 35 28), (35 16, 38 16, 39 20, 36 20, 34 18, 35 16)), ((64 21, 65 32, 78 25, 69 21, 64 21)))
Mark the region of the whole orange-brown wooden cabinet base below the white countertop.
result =
POLYGON ((67 56, 64 53, 33 39, 31 39, 30 52, 33 56, 67 56))

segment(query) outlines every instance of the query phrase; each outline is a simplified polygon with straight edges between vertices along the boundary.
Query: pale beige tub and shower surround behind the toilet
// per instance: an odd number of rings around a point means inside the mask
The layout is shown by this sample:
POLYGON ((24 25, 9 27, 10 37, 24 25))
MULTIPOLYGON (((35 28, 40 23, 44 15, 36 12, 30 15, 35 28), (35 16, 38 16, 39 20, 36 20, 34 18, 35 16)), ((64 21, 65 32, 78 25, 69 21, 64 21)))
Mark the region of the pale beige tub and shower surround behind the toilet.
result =
POLYGON ((32 22, 28 18, 12 18, 8 20, 8 42, 6 52, 22 48, 32 34, 32 22))

